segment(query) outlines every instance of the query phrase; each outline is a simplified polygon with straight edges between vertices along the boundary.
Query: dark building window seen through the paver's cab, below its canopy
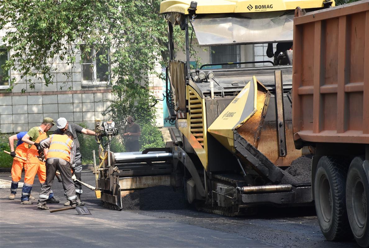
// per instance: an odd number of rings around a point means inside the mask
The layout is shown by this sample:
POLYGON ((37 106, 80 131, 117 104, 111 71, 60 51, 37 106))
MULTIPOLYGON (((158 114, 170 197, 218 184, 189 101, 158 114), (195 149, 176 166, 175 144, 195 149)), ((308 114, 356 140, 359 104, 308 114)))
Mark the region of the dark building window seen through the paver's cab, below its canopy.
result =
MULTIPOLYGON (((239 62, 240 52, 238 45, 211 46, 210 63, 230 63, 239 62)), ((222 65, 220 68, 235 68, 238 64, 222 65)))

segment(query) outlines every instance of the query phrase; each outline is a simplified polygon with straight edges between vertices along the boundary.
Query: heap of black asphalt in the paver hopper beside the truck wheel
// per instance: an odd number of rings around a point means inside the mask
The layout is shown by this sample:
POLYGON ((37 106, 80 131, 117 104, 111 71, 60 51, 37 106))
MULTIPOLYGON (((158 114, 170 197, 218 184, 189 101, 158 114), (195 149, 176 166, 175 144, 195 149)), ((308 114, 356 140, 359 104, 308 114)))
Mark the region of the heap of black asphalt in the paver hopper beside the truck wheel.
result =
POLYGON ((301 156, 292 161, 290 167, 282 171, 284 177, 280 184, 310 185, 311 158, 301 156))

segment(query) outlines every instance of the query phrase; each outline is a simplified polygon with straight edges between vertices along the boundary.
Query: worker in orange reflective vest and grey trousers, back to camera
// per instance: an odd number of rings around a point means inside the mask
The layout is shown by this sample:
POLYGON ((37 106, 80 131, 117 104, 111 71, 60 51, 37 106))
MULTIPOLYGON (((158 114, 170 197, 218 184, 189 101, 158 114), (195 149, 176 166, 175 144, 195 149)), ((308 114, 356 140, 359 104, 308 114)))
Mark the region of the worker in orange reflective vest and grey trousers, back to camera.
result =
POLYGON ((76 153, 72 132, 66 131, 63 135, 50 135, 49 138, 40 142, 39 147, 45 149, 46 181, 41 187, 37 208, 49 209, 46 202, 49 198, 56 170, 59 170, 62 177, 63 188, 69 200, 69 205, 76 205, 77 196, 71 172, 71 164, 76 153))

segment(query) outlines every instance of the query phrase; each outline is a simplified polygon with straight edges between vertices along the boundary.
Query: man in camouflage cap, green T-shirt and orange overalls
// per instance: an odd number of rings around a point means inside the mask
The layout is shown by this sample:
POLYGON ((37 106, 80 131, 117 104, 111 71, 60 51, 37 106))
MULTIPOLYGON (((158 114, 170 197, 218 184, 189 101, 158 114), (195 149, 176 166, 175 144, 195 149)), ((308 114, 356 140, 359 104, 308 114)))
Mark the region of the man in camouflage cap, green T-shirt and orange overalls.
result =
MULTIPOLYGON (((22 197, 21 204, 33 204, 30 201, 30 195, 32 190, 33 181, 35 179, 35 175, 38 175, 38 180, 42 184, 45 183, 46 180, 46 167, 45 162, 40 161, 36 156, 38 156, 39 143, 41 140, 46 139, 46 132, 54 126, 54 120, 52 118, 46 117, 40 126, 31 128, 26 135, 23 136, 22 141, 24 143, 29 144, 27 151, 27 163, 24 167, 25 176, 24 176, 24 185, 22 189, 22 197)), ((59 203, 58 200, 55 200, 54 194, 50 193, 50 198, 48 199, 48 203, 59 203)))

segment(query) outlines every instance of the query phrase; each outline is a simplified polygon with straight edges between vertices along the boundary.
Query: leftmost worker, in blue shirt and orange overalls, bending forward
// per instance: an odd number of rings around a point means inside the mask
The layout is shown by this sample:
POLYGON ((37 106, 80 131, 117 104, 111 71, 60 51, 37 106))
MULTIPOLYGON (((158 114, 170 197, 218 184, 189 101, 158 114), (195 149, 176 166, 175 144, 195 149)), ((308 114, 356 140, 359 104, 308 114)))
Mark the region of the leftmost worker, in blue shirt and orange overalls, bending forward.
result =
MULTIPOLYGON (((18 189, 18 183, 21 180, 22 170, 23 166, 25 166, 25 161, 20 158, 16 158, 15 156, 18 155, 19 157, 26 158, 27 157, 27 151, 28 151, 28 144, 24 143, 22 141, 23 136, 27 132, 20 132, 16 135, 12 135, 9 137, 9 146, 10 146, 10 156, 12 156, 13 159, 13 165, 11 166, 11 186, 10 186, 10 195, 9 200, 14 200, 15 194, 17 193, 18 189), (14 151, 14 141, 18 140, 17 148, 15 148, 14 151)), ((30 196, 31 200, 34 200, 30 196)))

